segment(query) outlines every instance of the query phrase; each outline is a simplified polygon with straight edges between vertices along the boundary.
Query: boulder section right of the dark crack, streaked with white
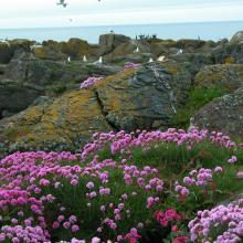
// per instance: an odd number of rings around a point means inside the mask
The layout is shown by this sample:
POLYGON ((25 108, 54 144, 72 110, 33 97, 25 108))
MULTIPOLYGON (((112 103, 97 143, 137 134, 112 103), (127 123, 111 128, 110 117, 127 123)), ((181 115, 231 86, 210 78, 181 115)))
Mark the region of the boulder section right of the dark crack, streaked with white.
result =
POLYGON ((134 130, 168 127, 190 85, 190 73, 167 62, 107 77, 95 91, 109 123, 117 129, 134 130))

